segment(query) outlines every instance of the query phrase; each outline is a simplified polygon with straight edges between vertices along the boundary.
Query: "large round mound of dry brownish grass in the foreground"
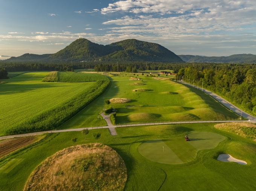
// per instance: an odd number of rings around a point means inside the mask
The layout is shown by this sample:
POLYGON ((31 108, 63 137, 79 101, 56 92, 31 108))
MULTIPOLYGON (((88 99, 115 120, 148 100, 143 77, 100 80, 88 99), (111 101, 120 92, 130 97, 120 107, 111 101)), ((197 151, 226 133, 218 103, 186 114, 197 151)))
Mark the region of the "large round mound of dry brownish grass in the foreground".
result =
POLYGON ((123 159, 108 146, 73 146, 39 165, 24 190, 123 190, 126 172, 123 159))

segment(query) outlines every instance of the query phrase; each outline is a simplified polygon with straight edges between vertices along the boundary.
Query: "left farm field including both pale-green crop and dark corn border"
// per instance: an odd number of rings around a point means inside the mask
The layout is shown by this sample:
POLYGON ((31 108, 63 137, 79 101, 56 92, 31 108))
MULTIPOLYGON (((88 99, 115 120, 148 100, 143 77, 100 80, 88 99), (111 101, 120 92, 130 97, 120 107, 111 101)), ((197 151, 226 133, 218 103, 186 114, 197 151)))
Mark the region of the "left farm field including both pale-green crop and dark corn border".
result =
POLYGON ((48 74, 28 72, 1 84, 0 135, 58 128, 108 85, 108 81, 42 82, 48 74), (69 107, 70 104, 75 107, 69 107))

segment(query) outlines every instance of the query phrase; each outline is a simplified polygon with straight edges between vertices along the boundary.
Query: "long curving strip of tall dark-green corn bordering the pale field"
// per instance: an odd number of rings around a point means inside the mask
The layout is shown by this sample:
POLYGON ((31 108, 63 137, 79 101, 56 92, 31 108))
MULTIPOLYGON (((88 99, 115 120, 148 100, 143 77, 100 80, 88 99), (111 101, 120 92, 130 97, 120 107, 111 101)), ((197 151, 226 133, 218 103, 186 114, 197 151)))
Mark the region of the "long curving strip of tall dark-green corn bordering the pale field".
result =
POLYGON ((101 95, 109 83, 110 80, 97 81, 93 86, 77 94, 76 97, 12 126, 5 134, 22 134, 56 129, 101 95))

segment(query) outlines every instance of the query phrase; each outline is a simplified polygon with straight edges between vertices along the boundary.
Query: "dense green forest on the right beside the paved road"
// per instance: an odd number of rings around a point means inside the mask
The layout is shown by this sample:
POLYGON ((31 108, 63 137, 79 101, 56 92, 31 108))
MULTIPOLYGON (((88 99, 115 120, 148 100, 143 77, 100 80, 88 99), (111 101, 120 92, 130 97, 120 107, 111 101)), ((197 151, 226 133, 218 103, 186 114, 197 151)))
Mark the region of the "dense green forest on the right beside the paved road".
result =
POLYGON ((255 65, 189 66, 179 69, 176 79, 199 84, 256 116, 255 65))

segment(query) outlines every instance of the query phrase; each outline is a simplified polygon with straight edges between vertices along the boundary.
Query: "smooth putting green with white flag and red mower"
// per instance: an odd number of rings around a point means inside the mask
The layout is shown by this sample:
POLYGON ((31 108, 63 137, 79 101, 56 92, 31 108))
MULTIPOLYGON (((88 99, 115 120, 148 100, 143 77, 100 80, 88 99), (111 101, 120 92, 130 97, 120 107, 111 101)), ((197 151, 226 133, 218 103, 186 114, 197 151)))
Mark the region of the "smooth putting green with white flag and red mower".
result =
POLYGON ((213 149, 226 137, 213 132, 191 132, 190 141, 184 136, 167 140, 147 140, 138 147, 139 153, 153 162, 183 164, 194 160, 199 150, 213 149))

